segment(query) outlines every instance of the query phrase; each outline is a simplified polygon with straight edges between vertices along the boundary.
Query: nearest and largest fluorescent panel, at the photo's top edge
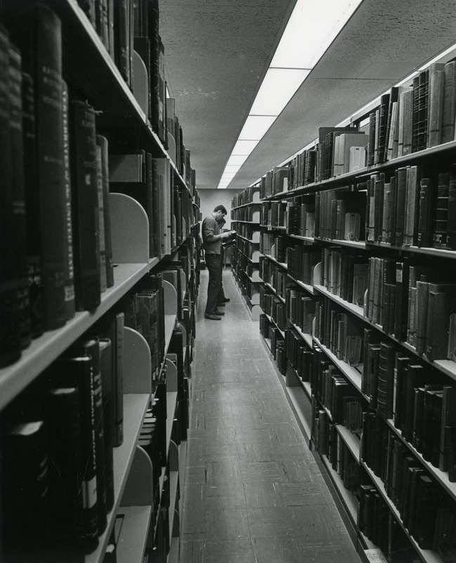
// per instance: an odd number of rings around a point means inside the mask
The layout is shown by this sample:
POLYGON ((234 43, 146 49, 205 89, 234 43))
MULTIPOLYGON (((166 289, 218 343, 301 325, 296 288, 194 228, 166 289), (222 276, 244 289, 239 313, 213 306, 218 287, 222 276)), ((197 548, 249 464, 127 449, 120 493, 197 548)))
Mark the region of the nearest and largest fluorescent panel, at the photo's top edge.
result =
POLYGON ((298 0, 271 67, 313 68, 362 0, 298 0))

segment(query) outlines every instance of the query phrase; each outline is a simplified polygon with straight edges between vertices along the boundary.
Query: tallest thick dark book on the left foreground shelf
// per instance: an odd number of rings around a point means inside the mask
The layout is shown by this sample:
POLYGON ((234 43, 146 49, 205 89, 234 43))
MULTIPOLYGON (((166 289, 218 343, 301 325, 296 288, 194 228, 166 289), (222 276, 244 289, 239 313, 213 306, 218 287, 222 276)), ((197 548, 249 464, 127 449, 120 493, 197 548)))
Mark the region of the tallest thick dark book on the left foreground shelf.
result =
POLYGON ((22 66, 35 91, 38 184, 44 327, 65 324, 65 254, 67 221, 62 107, 61 23, 37 4, 18 23, 22 66))

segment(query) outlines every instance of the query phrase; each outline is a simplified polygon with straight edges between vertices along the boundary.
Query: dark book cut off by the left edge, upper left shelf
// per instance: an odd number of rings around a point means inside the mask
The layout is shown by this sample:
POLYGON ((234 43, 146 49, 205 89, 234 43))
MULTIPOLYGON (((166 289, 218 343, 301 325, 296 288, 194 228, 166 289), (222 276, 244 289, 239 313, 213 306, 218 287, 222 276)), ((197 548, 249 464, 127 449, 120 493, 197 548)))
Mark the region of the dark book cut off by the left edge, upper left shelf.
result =
POLYGON ((1 184, 1 365, 17 360, 22 348, 18 317, 17 291, 20 279, 15 264, 16 214, 14 212, 13 163, 11 158, 9 41, 0 28, 0 184, 1 184), (6 77, 6 80, 5 80, 6 77))

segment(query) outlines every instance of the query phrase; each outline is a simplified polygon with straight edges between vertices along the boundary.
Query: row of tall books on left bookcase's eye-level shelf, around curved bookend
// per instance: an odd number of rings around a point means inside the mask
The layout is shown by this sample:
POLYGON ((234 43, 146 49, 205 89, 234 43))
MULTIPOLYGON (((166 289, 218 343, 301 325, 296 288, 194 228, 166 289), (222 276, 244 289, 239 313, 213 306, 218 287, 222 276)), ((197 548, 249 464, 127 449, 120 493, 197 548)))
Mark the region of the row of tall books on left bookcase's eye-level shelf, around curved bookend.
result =
POLYGON ((8 147, 1 166, 2 365, 76 310, 94 310, 114 284, 108 193, 122 184, 117 172, 148 210, 153 255, 188 236, 194 218, 190 194, 171 188, 167 158, 110 158, 111 141, 99 132, 96 110, 62 80, 58 17, 43 5, 19 12, 19 23, 4 17, 21 50, 6 29, 0 33, 2 75, 8 77, 1 127, 8 147), (28 32, 18 33, 18 25, 28 32), (136 176, 122 177, 126 169, 136 176))

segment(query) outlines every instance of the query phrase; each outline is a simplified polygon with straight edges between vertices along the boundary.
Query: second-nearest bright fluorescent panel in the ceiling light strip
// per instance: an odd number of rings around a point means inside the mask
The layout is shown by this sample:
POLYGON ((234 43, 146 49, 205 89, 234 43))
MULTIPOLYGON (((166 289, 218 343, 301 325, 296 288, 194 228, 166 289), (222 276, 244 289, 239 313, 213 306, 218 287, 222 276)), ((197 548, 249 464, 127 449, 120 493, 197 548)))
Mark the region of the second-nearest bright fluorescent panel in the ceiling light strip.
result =
POLYGON ((250 115, 279 115, 311 72, 301 68, 269 68, 250 115))

